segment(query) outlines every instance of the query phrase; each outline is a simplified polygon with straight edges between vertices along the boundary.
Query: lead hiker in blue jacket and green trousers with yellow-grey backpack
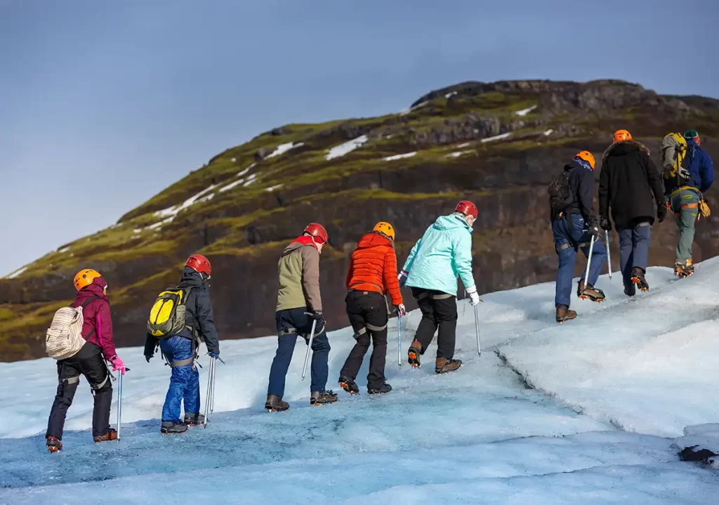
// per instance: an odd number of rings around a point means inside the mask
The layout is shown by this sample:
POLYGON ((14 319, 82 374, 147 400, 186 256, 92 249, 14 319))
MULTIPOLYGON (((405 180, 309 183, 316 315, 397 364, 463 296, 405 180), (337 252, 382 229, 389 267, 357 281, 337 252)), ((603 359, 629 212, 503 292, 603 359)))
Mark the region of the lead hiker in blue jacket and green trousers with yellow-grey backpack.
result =
MULTIPOLYGON (((681 138, 679 141, 681 142, 681 138)), ((672 156, 669 160, 664 158, 665 193, 669 209, 674 213, 674 221, 679 227, 679 243, 674 260, 674 275, 679 278, 694 273, 692 242, 694 242, 695 224, 699 219, 700 211, 705 217, 709 215, 702 194, 714 182, 714 166, 710 155, 700 147, 701 143, 697 130, 688 129, 684 132, 685 146, 682 146, 684 152, 679 154, 681 159, 678 160, 678 165, 677 158, 672 156)))

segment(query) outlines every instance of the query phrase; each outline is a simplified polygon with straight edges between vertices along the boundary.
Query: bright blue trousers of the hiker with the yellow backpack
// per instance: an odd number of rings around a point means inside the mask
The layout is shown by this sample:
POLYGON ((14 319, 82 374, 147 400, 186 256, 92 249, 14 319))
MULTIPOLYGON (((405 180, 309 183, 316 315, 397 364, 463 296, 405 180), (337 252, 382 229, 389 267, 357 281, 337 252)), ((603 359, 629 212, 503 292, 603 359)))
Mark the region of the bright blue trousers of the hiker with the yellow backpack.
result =
MULTIPOLYGON (((160 350, 168 361, 192 358, 192 342, 185 337, 160 340, 160 350)), ((162 421, 180 422, 180 404, 185 401, 185 414, 200 411, 200 373, 191 363, 173 368, 170 387, 162 406, 162 421)))

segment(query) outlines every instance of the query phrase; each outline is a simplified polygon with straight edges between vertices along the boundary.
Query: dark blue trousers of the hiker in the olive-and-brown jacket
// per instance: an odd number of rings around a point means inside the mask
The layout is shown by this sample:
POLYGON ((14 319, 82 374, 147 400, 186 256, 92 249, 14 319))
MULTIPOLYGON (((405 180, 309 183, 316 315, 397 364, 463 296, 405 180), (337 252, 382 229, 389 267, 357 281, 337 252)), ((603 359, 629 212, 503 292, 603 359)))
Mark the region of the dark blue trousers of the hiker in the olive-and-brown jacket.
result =
MULTIPOLYGON (((285 394, 285 377, 290 368, 297 336, 302 335, 309 343, 313 319, 305 314, 307 309, 280 310, 275 312, 278 335, 282 330, 294 329, 287 335, 278 336, 277 353, 270 368, 270 386, 267 394, 276 394, 280 398, 285 394)), ((317 323, 315 337, 312 340, 312 363, 310 367, 310 391, 324 391, 329 374, 329 339, 323 323, 317 323)))

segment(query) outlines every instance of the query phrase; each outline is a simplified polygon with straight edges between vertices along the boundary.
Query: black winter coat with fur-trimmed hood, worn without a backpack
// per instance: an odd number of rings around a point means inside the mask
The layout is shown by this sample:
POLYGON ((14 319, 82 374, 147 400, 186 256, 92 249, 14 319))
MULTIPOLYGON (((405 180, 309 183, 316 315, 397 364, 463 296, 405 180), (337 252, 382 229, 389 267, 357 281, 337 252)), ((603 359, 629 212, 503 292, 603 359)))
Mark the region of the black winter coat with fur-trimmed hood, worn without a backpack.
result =
POLYGON ((608 218, 611 206, 617 227, 654 224, 656 208, 664 202, 664 185, 649 158, 649 149, 634 140, 610 145, 602 158, 599 177, 600 216, 608 218))

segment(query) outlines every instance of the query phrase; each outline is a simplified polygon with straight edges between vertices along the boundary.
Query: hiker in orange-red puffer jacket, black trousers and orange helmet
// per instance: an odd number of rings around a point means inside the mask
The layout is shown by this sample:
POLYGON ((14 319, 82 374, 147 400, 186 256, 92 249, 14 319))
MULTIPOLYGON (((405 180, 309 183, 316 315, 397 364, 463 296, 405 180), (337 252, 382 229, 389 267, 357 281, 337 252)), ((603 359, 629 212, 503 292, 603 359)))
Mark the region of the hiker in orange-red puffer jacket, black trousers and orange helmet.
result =
POLYGON ((347 317, 354 330, 357 343, 347 356, 339 372, 339 386, 350 394, 359 393, 354 379, 370 348, 372 357, 367 374, 367 393, 380 394, 392 391, 385 382, 385 358, 387 357, 388 293, 399 317, 405 314, 405 306, 397 279, 397 255, 395 254, 395 229, 388 222, 379 222, 371 232, 359 240, 352 252, 347 271, 347 317))

